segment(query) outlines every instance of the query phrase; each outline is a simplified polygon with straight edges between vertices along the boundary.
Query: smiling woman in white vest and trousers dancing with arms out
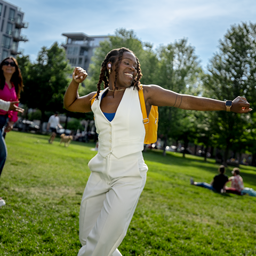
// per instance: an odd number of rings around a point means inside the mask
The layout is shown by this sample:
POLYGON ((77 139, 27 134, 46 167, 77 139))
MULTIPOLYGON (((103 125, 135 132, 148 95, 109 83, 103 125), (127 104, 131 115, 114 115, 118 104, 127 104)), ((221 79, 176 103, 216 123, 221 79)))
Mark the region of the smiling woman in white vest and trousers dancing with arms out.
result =
POLYGON ((97 94, 79 97, 78 86, 87 73, 76 67, 64 97, 69 111, 93 111, 99 134, 98 154, 89 162, 87 181, 79 215, 78 256, 120 256, 135 207, 146 183, 148 167, 142 156, 145 127, 138 91, 143 90, 147 115, 151 106, 194 110, 230 110, 248 113, 243 97, 225 102, 179 94, 158 85, 140 84, 140 63, 135 54, 122 47, 110 51, 101 64, 97 94), (104 90, 100 91, 101 83, 104 90))

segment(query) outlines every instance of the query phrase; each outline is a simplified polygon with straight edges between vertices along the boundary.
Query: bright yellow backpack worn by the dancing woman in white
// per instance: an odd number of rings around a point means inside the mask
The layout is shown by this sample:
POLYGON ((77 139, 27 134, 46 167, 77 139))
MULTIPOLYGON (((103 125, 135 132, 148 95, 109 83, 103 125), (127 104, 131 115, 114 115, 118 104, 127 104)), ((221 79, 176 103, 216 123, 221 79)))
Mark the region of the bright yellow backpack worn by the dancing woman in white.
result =
MULTIPOLYGON (((140 86, 142 87, 142 85, 140 86)), ((96 95, 97 93, 94 94, 91 100, 91 106, 95 100, 96 95)), ((147 117, 147 110, 146 110, 143 90, 139 91, 139 98, 140 98, 141 112, 143 116, 143 124, 145 126, 145 131, 146 131, 144 143, 145 144, 155 143, 157 141, 158 107, 151 106, 149 116, 147 117)))

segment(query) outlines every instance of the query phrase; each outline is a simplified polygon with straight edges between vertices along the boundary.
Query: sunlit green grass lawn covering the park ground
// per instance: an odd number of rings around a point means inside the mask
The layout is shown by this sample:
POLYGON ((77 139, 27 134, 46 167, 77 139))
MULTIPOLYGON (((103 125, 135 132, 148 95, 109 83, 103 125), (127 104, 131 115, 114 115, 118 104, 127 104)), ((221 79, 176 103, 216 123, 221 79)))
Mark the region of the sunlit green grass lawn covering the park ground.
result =
MULTIPOLYGON (((49 137, 6 136, 0 179, 0 255, 77 255, 79 205, 96 154, 94 144, 52 145, 49 137)), ((214 160, 179 153, 143 153, 146 187, 119 251, 128 255, 256 255, 256 197, 221 195, 191 186, 210 182, 214 160)), ((231 175, 232 168, 227 174, 231 175)), ((256 168, 241 166, 245 187, 256 190, 256 168)))

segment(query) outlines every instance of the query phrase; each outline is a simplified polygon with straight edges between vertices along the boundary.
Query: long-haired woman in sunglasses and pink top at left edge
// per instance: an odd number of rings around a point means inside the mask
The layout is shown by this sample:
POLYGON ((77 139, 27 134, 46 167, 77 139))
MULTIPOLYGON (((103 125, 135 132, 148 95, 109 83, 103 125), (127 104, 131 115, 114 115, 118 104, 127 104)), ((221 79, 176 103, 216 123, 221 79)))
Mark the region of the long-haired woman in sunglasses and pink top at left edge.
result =
MULTIPOLYGON (((0 63, 0 99, 3 101, 18 101, 23 87, 22 76, 18 62, 13 57, 7 57, 0 63)), ((2 173, 7 149, 2 135, 4 131, 10 132, 13 124, 18 120, 17 111, 0 109, 0 175, 2 173)), ((0 197, 0 206, 5 205, 0 197)))

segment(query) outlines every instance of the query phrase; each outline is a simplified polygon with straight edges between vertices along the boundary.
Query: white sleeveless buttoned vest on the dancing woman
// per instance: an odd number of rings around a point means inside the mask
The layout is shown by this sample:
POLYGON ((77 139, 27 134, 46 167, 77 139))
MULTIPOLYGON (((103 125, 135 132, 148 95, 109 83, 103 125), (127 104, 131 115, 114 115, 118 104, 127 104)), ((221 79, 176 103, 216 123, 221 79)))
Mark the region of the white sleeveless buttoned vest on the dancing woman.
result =
POLYGON ((98 153, 106 157, 110 153, 116 158, 137 153, 143 150, 145 127, 142 122, 139 93, 133 86, 125 90, 116 110, 114 119, 109 122, 100 109, 102 94, 94 100, 92 111, 95 126, 99 134, 98 153))

